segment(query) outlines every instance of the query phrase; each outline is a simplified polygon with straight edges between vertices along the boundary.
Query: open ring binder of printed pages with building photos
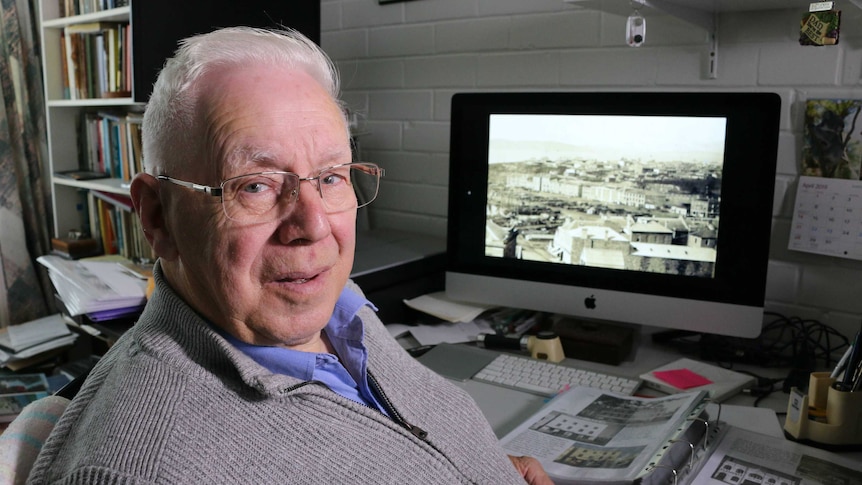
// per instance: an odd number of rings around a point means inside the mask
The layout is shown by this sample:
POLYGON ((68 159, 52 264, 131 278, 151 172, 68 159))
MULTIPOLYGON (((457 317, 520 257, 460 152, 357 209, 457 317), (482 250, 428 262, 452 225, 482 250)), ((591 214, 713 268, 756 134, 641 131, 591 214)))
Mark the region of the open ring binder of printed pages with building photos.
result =
POLYGON ((575 387, 504 436, 557 485, 860 483, 862 462, 720 421, 709 393, 644 398, 575 387))

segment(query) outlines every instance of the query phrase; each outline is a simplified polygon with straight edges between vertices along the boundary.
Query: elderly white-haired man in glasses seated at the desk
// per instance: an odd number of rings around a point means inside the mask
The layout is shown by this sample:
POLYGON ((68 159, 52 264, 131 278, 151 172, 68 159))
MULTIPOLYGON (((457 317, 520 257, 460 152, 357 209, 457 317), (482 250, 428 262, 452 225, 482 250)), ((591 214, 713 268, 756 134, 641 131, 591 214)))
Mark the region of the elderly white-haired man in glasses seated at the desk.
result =
POLYGON ((155 291, 31 483, 549 483, 348 281, 382 171, 352 162, 337 94, 292 31, 222 29, 168 61, 131 189, 155 291))

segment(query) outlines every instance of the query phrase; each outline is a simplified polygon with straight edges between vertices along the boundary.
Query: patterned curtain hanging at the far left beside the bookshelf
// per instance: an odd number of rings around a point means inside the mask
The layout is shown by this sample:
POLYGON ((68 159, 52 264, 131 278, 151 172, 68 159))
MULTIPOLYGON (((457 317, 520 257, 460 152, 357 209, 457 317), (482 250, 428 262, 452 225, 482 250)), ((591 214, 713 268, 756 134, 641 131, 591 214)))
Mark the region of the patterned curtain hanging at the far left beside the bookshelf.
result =
POLYGON ((0 327, 54 313, 36 0, 0 0, 0 327))

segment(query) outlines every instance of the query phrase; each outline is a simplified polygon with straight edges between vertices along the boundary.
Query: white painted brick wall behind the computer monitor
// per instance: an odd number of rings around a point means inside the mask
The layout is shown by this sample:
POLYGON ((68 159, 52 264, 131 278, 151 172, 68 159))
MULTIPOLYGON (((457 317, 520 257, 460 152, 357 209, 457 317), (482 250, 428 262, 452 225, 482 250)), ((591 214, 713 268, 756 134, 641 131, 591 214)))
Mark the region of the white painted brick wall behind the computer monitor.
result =
POLYGON ((646 42, 630 48, 628 2, 604 3, 600 12, 563 0, 322 0, 322 44, 364 120, 362 155, 386 167, 372 223, 445 235, 455 92, 772 91, 783 111, 768 304, 852 335, 862 318, 862 262, 789 251, 787 241, 804 102, 862 97, 862 12, 846 4, 839 44, 820 48, 798 44, 799 10, 723 13, 710 79, 705 30, 644 10, 646 42))

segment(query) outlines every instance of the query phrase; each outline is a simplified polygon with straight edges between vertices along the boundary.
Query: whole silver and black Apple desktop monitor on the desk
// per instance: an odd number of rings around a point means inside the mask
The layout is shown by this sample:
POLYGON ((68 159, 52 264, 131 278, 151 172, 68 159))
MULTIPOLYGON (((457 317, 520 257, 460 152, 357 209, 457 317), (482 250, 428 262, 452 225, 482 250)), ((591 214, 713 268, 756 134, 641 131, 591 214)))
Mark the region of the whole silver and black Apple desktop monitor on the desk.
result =
POLYGON ((755 337, 774 93, 452 98, 450 298, 755 337))

